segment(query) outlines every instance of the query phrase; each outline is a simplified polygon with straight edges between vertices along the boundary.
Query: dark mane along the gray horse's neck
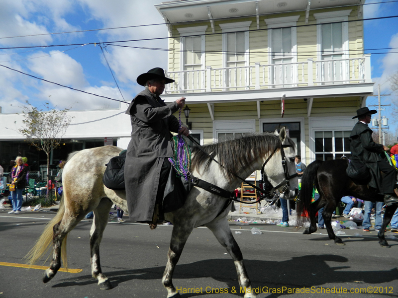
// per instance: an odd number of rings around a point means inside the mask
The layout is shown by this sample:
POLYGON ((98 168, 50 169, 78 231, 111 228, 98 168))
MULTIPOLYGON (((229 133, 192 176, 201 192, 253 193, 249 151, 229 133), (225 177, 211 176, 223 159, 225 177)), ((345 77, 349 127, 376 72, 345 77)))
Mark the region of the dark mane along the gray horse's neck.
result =
MULTIPOLYGON (((288 137, 289 146, 296 148, 295 143, 288 137)), ((206 170, 211 163, 209 155, 215 158, 220 165, 221 173, 229 180, 235 178, 235 173, 248 167, 259 155, 266 155, 274 149, 281 148, 279 137, 271 134, 249 134, 236 139, 220 143, 194 147, 191 170, 197 170, 204 164, 206 170), (252 154, 255 152, 255 155, 252 154)))

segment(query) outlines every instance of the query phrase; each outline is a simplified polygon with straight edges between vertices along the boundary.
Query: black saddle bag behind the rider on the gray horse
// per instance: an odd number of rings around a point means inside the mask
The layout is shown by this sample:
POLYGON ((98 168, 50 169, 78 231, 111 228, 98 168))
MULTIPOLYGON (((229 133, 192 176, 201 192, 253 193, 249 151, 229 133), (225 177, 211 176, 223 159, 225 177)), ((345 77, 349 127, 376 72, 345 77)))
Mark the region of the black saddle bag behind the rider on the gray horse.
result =
POLYGON ((126 150, 119 153, 119 156, 110 158, 103 173, 102 182, 112 190, 124 190, 124 162, 126 161, 126 150))

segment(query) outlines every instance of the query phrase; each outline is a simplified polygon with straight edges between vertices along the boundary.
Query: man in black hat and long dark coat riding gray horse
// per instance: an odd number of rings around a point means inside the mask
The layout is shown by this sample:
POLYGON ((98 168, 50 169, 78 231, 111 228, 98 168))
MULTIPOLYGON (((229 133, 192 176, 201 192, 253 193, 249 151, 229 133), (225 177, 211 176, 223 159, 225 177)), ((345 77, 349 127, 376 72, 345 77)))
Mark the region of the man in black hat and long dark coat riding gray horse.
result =
MULTIPOLYGON (((166 182, 170 176, 173 156, 171 133, 189 135, 173 113, 183 108, 185 97, 166 104, 159 95, 165 84, 174 82, 163 69, 154 68, 137 77, 137 83, 145 86, 127 108, 131 118, 131 141, 127 148, 124 180, 130 220, 154 224, 162 221, 163 199, 166 182)), ((180 200, 170 209, 178 209, 180 200)), ((181 206, 179 206, 181 205, 181 206)), ((167 211, 167 210, 166 210, 167 211)), ((172 210, 169 210, 172 211, 172 210)))

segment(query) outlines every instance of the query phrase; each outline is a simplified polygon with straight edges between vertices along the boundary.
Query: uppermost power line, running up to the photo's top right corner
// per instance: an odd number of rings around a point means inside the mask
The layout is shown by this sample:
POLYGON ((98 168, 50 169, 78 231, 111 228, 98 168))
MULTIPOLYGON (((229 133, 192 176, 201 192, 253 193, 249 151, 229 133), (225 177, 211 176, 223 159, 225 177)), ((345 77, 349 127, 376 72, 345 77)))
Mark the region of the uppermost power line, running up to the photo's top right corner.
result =
MULTIPOLYGON (((373 5, 373 4, 387 4, 387 3, 395 3, 398 0, 391 1, 383 1, 383 2, 373 2, 373 3, 360 3, 360 4, 348 4, 348 5, 339 5, 339 6, 327 6, 327 7, 319 7, 310 9, 311 11, 328 9, 328 8, 344 8, 344 7, 352 7, 352 6, 365 6, 365 5, 373 5)), ((219 17, 219 18, 206 18, 195 21, 181 21, 181 22, 166 22, 166 23, 155 23, 155 24, 145 24, 145 25, 131 25, 131 26, 122 26, 122 27, 111 27, 111 28, 99 28, 99 29, 87 29, 87 30, 76 30, 76 31, 65 31, 65 32, 53 32, 53 33, 42 33, 42 34, 31 34, 31 35, 19 35, 19 36, 8 36, 8 37, 0 37, 0 39, 7 38, 20 38, 20 37, 33 37, 33 36, 43 36, 43 35, 58 35, 58 34, 70 34, 70 33, 82 33, 82 32, 93 32, 93 31, 104 31, 104 30, 115 30, 115 29, 127 29, 127 28, 138 28, 138 27, 148 27, 148 26, 158 26, 158 25, 182 25, 186 23, 192 22, 206 22, 206 21, 219 21, 219 20, 228 20, 228 19, 237 19, 241 17, 254 17, 254 16, 266 16, 266 15, 276 15, 276 14, 285 14, 285 13, 293 13, 293 12, 302 12, 306 11, 306 9, 298 9, 298 10, 289 10, 282 12, 269 12, 269 13, 260 13, 260 14, 248 14, 242 16, 228 16, 228 17, 219 17)))

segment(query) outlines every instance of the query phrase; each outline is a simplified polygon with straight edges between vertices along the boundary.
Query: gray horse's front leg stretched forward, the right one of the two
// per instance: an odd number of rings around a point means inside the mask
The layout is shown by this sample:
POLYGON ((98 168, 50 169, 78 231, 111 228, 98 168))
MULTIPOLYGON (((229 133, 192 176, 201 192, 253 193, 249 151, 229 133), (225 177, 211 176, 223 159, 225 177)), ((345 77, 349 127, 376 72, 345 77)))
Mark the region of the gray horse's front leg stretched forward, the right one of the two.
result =
POLYGON ((226 218, 215 219, 211 223, 206 224, 206 226, 213 232, 218 242, 220 242, 231 255, 235 263, 236 272, 238 273, 239 285, 242 289, 246 289, 244 298, 255 298, 256 295, 254 293, 248 293, 251 292, 252 289, 250 279, 247 275, 245 265, 243 264, 242 252, 232 235, 226 218))

